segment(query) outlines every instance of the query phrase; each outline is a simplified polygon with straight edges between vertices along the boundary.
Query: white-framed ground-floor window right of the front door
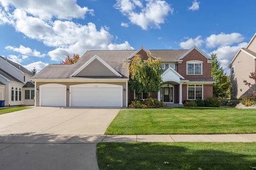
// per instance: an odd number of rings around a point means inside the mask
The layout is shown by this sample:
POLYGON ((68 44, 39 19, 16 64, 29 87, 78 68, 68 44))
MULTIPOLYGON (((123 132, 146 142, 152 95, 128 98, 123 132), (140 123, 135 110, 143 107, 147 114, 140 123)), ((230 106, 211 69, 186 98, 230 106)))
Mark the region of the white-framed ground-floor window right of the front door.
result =
POLYGON ((203 99, 203 85, 188 85, 188 100, 203 99))

